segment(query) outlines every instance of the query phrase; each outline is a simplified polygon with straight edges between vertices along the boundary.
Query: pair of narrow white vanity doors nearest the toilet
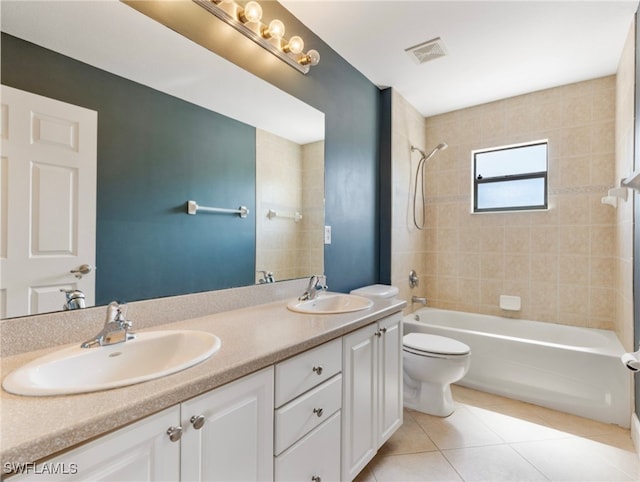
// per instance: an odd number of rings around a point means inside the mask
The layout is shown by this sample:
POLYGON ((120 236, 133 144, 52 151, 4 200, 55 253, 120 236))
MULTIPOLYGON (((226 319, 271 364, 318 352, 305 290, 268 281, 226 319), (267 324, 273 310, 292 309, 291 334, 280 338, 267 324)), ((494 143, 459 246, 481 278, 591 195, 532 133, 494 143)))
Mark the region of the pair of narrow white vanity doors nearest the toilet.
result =
POLYGON ((402 424, 402 313, 343 338, 342 480, 353 480, 402 424))

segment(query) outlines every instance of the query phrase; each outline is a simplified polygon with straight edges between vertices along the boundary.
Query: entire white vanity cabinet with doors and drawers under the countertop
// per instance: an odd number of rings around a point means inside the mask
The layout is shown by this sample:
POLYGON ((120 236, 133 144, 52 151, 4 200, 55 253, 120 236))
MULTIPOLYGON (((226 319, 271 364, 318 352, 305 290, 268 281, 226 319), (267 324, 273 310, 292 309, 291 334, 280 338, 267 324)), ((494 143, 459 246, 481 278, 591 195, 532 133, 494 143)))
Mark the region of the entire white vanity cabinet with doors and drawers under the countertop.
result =
POLYGON ((10 480, 351 481, 402 423, 401 346, 398 312, 10 480))

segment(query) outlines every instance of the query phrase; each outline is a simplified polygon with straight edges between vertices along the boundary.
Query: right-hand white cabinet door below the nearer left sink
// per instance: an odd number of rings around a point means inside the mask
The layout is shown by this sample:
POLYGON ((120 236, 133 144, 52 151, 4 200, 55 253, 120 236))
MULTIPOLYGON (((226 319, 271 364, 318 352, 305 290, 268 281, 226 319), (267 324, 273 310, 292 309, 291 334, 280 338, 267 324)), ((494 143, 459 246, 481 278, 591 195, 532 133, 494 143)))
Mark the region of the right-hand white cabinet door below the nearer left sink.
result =
POLYGON ((181 415, 183 481, 273 480, 273 367, 184 402, 181 415))

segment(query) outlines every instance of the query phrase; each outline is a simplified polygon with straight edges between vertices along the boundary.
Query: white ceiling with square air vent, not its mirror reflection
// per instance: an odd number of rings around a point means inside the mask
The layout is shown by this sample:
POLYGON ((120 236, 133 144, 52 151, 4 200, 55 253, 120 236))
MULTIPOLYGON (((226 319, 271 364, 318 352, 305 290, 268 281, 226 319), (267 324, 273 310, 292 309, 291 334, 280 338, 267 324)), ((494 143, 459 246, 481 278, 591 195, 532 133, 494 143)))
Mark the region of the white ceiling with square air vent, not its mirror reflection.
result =
POLYGON ((638 7, 638 0, 280 3, 424 116, 614 74, 638 7), (445 57, 416 65, 405 53, 435 37, 445 57))

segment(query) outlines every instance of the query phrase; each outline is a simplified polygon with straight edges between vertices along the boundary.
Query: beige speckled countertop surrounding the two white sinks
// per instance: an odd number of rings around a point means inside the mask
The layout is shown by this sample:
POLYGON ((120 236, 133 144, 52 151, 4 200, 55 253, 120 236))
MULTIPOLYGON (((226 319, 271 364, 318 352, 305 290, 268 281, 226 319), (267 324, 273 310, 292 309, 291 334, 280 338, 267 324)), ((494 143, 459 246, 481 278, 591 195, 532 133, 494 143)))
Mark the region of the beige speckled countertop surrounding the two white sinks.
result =
MULTIPOLYGON (((222 347, 211 358, 173 375, 128 387, 69 396, 24 397, 2 390, 2 467, 7 463, 42 460, 340 337, 406 305, 402 300, 382 300, 363 311, 308 315, 289 311, 287 301, 139 330, 202 330, 222 340, 222 347)), ((4 378, 13 369, 60 348, 62 346, 2 358, 0 373, 4 378)))

